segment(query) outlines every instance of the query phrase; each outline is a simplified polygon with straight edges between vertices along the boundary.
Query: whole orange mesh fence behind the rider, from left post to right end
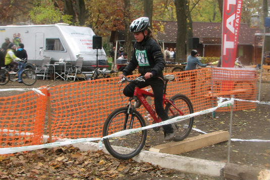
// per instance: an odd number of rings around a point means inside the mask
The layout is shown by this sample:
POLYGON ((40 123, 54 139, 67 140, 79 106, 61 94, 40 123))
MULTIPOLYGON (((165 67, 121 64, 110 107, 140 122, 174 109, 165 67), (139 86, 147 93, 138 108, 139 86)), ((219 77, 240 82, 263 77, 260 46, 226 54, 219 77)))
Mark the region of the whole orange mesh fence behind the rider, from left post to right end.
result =
MULTIPOLYGON (((236 98, 255 100, 256 80, 253 72, 220 71, 203 68, 170 73, 174 74, 176 78, 168 83, 167 97, 170 98, 178 93, 185 94, 190 98, 195 112, 216 106, 217 96, 230 97, 231 94, 235 94, 236 98), (227 79, 227 74, 234 75, 231 79, 227 79), (238 76, 241 78, 237 79, 238 76), (228 80, 229 83, 226 84, 228 80), (230 86, 227 87, 228 85, 230 86), (248 87, 248 85, 250 86, 248 87)), ((63 138, 102 137, 102 128, 106 117, 116 108, 126 106, 128 103, 127 98, 122 93, 125 84, 120 88, 118 81, 118 78, 107 78, 51 87, 49 92, 52 136, 63 138)), ((150 97, 147 98, 147 101, 152 105, 153 101, 150 97)), ((253 107, 254 103, 247 102, 236 102, 234 106, 237 110, 253 107)), ((142 106, 138 110, 143 117, 147 115, 142 106)), ((230 109, 223 108, 222 110, 230 109)))

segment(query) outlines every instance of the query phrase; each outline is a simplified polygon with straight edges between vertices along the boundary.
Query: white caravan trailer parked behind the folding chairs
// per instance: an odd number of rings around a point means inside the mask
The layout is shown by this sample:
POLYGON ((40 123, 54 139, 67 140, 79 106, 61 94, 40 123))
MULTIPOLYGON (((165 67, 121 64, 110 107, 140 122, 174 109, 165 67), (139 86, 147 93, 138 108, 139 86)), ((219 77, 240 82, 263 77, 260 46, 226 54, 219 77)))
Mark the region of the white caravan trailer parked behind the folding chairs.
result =
POLYGON ((107 64, 104 49, 93 49, 94 32, 89 27, 69 26, 59 23, 53 25, 0 26, 0 44, 9 37, 11 42, 24 44, 28 54, 28 67, 41 65, 44 57, 51 57, 51 64, 59 61, 75 65, 78 57, 83 57, 83 71, 98 62, 107 64), (96 53, 98 52, 98 56, 96 53))

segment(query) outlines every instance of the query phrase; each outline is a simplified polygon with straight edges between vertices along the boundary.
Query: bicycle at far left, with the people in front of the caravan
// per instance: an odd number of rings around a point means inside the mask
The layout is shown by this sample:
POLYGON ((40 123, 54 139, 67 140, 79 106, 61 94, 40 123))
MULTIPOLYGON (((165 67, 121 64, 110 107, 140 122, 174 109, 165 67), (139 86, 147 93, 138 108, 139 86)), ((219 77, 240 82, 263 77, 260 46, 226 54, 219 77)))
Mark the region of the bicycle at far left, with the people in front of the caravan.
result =
POLYGON ((8 65, 0 69, 0 85, 5 85, 9 81, 18 81, 19 73, 21 73, 21 79, 23 84, 31 86, 36 82, 36 73, 31 69, 24 69, 26 60, 22 60, 22 68, 19 68, 16 73, 10 74, 11 67, 8 65))

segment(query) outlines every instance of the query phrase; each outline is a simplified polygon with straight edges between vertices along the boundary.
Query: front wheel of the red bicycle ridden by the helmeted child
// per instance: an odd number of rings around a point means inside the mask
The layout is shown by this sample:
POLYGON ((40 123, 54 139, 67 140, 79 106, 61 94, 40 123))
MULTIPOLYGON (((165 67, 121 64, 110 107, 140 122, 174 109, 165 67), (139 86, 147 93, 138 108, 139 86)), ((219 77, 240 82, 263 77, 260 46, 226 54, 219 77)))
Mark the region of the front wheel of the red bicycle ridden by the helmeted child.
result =
MULTIPOLYGON (((103 126, 103 137, 123 130, 145 126, 141 114, 136 110, 129 114, 128 108, 118 108, 107 117, 103 126)), ((103 142, 107 151, 114 157, 118 159, 129 159, 140 153, 145 144, 146 135, 147 131, 143 130, 121 137, 106 138, 103 142)))

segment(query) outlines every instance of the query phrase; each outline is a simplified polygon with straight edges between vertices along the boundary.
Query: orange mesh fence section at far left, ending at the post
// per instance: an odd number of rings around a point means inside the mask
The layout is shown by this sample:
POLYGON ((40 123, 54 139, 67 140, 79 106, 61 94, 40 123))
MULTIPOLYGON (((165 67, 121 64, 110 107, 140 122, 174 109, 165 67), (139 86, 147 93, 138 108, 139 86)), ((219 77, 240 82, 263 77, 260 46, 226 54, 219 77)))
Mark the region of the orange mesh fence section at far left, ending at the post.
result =
POLYGON ((42 144, 47 90, 0 97, 0 147, 42 144))

